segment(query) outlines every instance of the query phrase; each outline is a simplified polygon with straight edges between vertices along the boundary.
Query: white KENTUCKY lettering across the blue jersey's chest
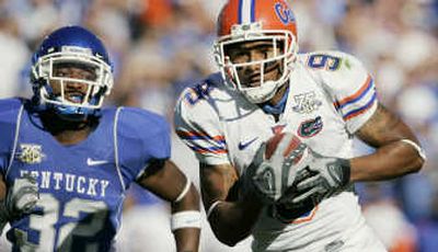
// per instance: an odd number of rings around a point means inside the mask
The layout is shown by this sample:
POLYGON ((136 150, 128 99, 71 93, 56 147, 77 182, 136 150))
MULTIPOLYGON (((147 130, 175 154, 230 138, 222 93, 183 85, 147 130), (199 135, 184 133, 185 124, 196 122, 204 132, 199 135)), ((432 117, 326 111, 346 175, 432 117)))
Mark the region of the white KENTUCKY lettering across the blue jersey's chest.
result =
POLYGON ((99 180, 70 173, 50 171, 20 171, 22 176, 27 173, 37 179, 39 188, 87 194, 95 197, 105 197, 106 187, 110 185, 110 181, 107 180, 99 180))

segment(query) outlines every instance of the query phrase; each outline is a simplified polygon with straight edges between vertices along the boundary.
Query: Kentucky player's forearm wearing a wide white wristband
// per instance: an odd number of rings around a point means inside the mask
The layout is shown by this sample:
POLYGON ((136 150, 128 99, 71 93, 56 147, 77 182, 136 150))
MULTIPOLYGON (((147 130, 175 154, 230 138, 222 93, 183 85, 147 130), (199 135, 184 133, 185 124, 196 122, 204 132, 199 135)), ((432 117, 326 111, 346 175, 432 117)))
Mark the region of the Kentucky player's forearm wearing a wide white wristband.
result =
POLYGON ((176 251, 198 251, 200 233, 199 195, 193 184, 181 202, 172 204, 172 230, 175 237, 176 251))

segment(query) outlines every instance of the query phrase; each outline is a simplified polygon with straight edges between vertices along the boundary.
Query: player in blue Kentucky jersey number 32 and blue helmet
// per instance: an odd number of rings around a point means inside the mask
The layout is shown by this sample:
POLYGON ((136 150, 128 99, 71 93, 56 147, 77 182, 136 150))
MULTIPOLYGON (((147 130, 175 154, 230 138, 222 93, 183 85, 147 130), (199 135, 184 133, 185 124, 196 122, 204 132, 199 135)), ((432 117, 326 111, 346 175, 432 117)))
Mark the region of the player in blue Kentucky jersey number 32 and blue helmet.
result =
POLYGON ((170 160, 168 123, 101 108, 113 87, 102 42, 61 27, 32 61, 33 98, 0 101, 0 220, 13 251, 112 250, 134 182, 171 202, 177 251, 197 251, 198 193, 170 160))

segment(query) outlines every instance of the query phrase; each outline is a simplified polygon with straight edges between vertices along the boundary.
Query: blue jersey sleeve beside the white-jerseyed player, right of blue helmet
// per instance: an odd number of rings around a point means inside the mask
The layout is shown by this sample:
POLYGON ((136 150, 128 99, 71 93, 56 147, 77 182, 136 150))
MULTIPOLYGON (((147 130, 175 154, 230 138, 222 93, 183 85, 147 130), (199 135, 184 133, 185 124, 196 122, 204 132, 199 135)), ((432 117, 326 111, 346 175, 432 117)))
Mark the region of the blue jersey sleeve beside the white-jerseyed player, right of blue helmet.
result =
POLYGON ((125 107, 118 121, 120 163, 131 180, 136 180, 152 160, 171 157, 170 126, 162 116, 125 107))

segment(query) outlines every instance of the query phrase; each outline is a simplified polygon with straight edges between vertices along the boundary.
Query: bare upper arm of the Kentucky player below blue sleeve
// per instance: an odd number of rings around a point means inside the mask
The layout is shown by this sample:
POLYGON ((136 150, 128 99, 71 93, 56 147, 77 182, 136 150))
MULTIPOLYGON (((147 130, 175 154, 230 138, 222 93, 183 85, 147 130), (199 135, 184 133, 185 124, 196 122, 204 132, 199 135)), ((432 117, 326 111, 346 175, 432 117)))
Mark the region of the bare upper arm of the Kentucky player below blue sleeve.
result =
POLYGON ((184 190, 186 177, 170 160, 153 160, 137 183, 168 202, 174 201, 184 190))

